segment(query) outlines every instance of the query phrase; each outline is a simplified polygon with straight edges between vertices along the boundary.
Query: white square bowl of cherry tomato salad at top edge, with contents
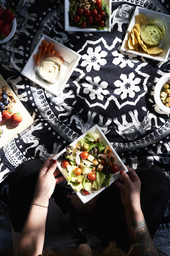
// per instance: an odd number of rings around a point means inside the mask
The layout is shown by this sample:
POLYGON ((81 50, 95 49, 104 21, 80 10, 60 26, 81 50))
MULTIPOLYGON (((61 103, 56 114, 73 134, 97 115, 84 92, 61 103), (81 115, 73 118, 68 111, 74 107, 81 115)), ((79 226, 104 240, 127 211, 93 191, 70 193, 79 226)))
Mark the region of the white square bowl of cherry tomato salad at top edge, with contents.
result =
POLYGON ((65 0, 66 31, 111 31, 111 0, 65 0))

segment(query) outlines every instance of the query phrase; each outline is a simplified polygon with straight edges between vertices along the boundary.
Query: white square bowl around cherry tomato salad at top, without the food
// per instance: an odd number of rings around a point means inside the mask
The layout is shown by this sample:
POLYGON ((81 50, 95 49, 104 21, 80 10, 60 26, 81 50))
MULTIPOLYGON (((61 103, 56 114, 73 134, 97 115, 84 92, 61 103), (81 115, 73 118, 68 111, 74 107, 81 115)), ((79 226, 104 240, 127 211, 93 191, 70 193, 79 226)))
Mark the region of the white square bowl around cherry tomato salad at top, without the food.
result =
POLYGON ((69 24, 69 7, 70 7, 70 2, 69 0, 64 0, 64 26, 66 31, 81 31, 81 32, 110 32, 111 31, 111 12, 112 12, 112 1, 111 0, 106 0, 106 4, 109 5, 109 12, 110 12, 110 17, 107 19, 107 28, 105 27, 104 30, 99 30, 96 28, 79 28, 79 27, 74 27, 70 26, 69 24))

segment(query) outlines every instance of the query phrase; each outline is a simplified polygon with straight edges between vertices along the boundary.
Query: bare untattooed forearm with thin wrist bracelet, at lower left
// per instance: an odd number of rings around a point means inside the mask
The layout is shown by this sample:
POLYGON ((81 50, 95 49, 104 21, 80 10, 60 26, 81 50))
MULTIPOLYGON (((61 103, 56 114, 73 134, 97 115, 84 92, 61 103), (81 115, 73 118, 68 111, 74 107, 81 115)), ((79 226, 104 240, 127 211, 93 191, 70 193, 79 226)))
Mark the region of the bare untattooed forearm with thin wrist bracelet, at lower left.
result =
MULTIPOLYGON (((34 202, 42 205, 38 201, 34 202)), ((47 203, 44 204, 44 206, 47 205, 47 203)), ((46 207, 30 205, 28 217, 16 247, 16 256, 37 256, 42 254, 47 210, 46 207)))

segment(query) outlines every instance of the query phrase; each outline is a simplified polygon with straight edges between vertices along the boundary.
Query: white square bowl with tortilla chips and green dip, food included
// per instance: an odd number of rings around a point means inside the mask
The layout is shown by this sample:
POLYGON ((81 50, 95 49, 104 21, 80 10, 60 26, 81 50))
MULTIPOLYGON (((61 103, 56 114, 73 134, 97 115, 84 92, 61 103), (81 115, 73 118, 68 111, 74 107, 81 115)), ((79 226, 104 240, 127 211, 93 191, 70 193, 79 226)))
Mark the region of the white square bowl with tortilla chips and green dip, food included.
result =
POLYGON ((170 50, 169 28, 169 15, 137 6, 125 34, 121 51, 165 62, 170 50), (155 36, 155 33, 158 37, 156 43, 156 37, 152 38, 152 34, 155 36), (149 39, 148 42, 147 39, 149 39))

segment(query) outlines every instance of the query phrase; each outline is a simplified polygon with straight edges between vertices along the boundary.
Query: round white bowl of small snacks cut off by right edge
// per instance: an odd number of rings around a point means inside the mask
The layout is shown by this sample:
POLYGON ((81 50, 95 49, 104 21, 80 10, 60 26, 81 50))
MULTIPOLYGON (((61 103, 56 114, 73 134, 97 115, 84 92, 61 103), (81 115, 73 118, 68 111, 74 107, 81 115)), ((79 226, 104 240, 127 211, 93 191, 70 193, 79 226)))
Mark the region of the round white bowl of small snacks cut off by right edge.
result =
POLYGON ((170 114, 170 73, 162 76, 156 83, 154 99, 160 110, 170 114))

